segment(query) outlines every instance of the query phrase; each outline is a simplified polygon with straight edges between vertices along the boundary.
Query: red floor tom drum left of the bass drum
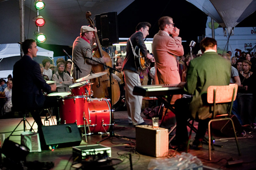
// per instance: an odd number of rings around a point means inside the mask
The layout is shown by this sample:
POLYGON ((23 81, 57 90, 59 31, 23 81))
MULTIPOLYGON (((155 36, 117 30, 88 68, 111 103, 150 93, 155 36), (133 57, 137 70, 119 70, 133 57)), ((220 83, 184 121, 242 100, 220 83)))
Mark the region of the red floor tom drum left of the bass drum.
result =
POLYGON ((68 96, 59 98, 60 124, 76 123, 77 127, 83 127, 83 117, 88 115, 88 102, 86 96, 68 96))

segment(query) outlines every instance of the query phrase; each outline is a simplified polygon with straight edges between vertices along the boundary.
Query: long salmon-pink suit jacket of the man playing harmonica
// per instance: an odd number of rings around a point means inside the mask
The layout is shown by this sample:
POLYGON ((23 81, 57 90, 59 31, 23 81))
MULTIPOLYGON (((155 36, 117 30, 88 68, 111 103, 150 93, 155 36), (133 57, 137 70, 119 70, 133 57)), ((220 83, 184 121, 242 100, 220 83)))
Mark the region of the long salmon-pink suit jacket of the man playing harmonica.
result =
MULTIPOLYGON (((180 75, 178 71, 177 56, 183 56, 184 50, 180 37, 170 37, 165 31, 159 30, 153 39, 153 55, 156 60, 156 84, 179 84, 180 75)), ((181 95, 173 97, 171 103, 181 95)))

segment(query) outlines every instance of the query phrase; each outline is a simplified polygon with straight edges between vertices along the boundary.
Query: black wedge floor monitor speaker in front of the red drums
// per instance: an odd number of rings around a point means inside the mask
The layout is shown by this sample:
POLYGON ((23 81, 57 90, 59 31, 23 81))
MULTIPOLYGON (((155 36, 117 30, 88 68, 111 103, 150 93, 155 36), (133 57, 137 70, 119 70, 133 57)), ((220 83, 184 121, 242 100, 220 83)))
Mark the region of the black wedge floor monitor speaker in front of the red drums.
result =
POLYGON ((82 139, 76 124, 42 126, 42 133, 47 145, 58 148, 78 146, 82 139))

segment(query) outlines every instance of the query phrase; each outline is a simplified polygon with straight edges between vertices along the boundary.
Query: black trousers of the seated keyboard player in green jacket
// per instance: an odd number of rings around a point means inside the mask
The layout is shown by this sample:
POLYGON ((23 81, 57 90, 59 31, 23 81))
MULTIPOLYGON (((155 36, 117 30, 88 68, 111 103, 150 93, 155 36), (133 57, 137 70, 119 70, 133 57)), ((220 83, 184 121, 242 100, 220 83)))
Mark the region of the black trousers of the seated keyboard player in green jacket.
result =
MULTIPOLYGON (((175 102, 175 115, 176 115, 176 140, 178 143, 185 144, 188 141, 187 132, 187 120, 191 118, 189 112, 189 103, 191 98, 178 99, 175 102)), ((195 139, 202 141, 210 119, 197 120, 198 121, 198 131, 195 139)))

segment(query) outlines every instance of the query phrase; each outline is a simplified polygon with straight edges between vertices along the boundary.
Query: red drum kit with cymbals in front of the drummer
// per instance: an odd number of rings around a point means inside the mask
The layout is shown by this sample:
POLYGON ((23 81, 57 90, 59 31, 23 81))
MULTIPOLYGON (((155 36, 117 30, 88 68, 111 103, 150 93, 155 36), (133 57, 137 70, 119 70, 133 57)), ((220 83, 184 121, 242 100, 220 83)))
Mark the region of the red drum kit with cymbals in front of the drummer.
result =
MULTIPOLYGON (((71 92, 54 92, 48 96, 59 96, 60 124, 76 123, 84 127, 85 133, 108 133, 111 126, 111 103, 109 99, 92 99, 90 79, 105 75, 106 72, 90 74, 70 85, 71 92)), ((54 83, 47 81, 48 84, 54 83)))

